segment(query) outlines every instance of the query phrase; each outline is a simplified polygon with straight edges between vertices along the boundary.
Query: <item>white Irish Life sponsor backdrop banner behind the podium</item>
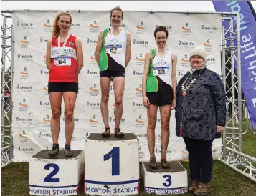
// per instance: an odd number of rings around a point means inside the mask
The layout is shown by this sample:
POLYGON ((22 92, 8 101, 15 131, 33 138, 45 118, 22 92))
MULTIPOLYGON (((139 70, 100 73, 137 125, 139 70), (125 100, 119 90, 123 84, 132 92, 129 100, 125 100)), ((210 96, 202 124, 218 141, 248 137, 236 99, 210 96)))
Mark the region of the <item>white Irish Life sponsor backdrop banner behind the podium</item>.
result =
MULTIPOLYGON (((50 130, 51 109, 47 92, 48 70, 45 54, 47 41, 51 39, 54 16, 57 11, 16 11, 14 13, 14 81, 13 120, 14 162, 27 162, 40 150, 52 147, 50 130)), ((84 149, 85 139, 91 132, 103 132, 100 113, 100 77, 95 61, 95 46, 101 30, 110 26, 109 11, 72 11, 70 33, 82 41, 84 67, 79 75, 79 93, 75 104, 75 132, 72 149, 84 149)), ((189 68, 189 52, 196 46, 207 51, 207 66, 221 74, 221 26, 218 14, 177 14, 125 11, 121 27, 131 33, 131 62, 126 68, 123 94, 123 118, 120 128, 133 132, 140 139, 140 160, 148 160, 146 141, 147 115, 143 107, 141 81, 145 53, 156 48, 153 32, 164 25, 169 31, 168 49, 177 55, 178 80, 189 68)), ((110 84, 110 128, 114 128, 115 99, 110 84)), ((158 111, 159 112, 159 111, 158 111)), ((187 151, 182 138, 176 137, 174 111, 170 121, 171 136, 167 158, 186 160, 187 151)), ((64 103, 60 118, 60 147, 65 144, 64 103)), ((215 139, 212 149, 218 157, 221 139, 215 139)), ((161 119, 156 124, 156 158, 161 156, 161 119)))

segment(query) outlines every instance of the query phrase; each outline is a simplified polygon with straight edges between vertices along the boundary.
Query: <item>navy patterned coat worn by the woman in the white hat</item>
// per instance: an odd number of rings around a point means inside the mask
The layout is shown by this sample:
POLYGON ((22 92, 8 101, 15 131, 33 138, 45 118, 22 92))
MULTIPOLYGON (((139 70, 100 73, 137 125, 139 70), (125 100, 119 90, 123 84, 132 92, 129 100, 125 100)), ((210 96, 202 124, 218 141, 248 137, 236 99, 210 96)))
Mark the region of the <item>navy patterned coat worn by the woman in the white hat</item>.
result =
POLYGON ((180 137, 183 116, 182 137, 203 140, 220 137, 216 126, 224 127, 226 122, 226 99, 222 80, 217 73, 207 68, 196 70, 191 76, 191 79, 196 78, 196 82, 191 84, 183 97, 181 85, 188 76, 189 72, 181 78, 176 89, 176 135, 180 137))

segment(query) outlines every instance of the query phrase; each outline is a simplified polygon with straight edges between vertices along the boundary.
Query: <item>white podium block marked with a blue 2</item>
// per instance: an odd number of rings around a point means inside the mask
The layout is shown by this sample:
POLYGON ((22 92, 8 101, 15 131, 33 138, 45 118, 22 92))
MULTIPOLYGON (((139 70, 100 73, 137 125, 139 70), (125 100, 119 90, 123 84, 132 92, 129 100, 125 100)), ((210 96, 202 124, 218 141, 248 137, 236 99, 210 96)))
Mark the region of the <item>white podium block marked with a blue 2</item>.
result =
POLYGON ((29 195, 77 195, 85 172, 83 150, 72 150, 65 157, 64 150, 49 157, 42 150, 29 158, 29 195))

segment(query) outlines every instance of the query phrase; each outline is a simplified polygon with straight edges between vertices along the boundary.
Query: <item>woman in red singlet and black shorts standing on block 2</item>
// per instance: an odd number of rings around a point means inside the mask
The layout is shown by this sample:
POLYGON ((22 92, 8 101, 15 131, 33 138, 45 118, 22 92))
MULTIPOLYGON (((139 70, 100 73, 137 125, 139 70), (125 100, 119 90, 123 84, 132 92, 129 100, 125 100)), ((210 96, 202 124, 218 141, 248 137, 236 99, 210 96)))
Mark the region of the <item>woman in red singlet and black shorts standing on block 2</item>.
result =
POLYGON ((65 103, 65 150, 71 156, 70 143, 74 132, 73 112, 78 93, 78 74, 83 66, 82 43, 69 33, 72 17, 69 11, 58 11, 54 19, 52 39, 47 44, 47 69, 49 69, 49 101, 52 108, 52 150, 59 152, 59 132, 62 97, 65 103))

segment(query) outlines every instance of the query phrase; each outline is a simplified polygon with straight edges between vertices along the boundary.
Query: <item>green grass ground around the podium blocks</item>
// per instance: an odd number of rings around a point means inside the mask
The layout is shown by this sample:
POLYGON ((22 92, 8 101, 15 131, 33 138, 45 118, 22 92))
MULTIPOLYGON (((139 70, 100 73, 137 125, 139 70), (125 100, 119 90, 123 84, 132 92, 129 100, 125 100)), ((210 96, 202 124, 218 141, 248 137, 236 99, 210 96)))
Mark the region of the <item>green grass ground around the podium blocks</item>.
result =
MULTIPOLYGON (((242 152, 252 157, 256 157, 256 135, 252 132, 242 137, 242 152)), ((182 165, 189 171, 187 162, 182 165)), ((212 173, 212 196, 255 196, 256 185, 243 175, 235 172, 219 160, 214 161, 212 173)), ((29 164, 11 163, 1 169, 1 195, 4 196, 27 196, 29 184, 29 164)), ((83 191, 81 191, 83 192, 83 191)), ((85 195, 81 193, 80 195, 85 195)), ((143 192, 143 182, 141 182, 140 195, 152 195, 143 192)), ((184 194, 191 195, 191 194, 184 194)))

